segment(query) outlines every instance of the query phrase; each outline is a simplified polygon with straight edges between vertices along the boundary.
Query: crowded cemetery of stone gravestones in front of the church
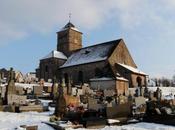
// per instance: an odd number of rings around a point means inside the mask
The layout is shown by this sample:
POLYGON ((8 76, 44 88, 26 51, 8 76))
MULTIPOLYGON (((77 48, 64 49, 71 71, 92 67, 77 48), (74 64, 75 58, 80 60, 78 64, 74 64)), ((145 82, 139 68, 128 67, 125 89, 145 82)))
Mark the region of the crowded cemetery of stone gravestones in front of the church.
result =
POLYGON ((142 121, 175 123, 175 99, 173 95, 167 99, 159 87, 138 84, 136 88, 129 88, 126 79, 106 77, 77 85, 71 81, 67 84, 64 78, 59 83, 55 78, 52 83, 40 81, 27 87, 25 83, 16 83, 13 76, 11 69, 8 82, 0 86, 0 110, 19 113, 55 108, 50 121, 43 122, 55 129, 65 129, 62 124, 67 123, 71 128, 103 128, 142 121), (117 79, 126 85, 118 88, 117 79), (48 100, 47 105, 42 104, 43 99, 48 100))

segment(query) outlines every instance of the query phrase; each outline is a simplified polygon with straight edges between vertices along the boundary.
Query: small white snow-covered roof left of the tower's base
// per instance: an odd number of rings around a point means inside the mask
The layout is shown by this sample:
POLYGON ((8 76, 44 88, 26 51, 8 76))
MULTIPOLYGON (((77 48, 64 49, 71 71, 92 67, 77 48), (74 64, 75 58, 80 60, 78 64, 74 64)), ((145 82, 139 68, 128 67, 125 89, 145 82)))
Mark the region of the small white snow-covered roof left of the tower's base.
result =
POLYGON ((60 51, 51 51, 48 55, 46 55, 42 59, 48 59, 48 58, 59 58, 59 59, 64 59, 67 60, 67 57, 60 51))

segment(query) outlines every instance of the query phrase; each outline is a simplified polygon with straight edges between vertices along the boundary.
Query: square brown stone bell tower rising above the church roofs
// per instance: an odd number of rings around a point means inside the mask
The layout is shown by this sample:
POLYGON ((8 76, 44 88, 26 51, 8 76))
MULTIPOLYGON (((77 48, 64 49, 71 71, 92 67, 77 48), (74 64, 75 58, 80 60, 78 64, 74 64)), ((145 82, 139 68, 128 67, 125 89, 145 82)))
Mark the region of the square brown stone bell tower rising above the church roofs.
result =
POLYGON ((57 51, 70 56, 72 51, 82 48, 82 32, 70 21, 57 32, 57 51))

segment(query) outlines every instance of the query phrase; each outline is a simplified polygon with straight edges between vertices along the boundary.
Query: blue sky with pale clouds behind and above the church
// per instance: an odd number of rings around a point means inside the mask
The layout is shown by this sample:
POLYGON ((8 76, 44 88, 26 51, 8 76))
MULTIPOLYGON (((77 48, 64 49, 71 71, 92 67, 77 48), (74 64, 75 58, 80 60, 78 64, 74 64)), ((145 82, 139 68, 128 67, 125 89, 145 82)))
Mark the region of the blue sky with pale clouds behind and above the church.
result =
POLYGON ((0 68, 33 72, 69 21, 83 46, 123 38, 150 77, 175 74, 174 0, 0 0, 0 68))

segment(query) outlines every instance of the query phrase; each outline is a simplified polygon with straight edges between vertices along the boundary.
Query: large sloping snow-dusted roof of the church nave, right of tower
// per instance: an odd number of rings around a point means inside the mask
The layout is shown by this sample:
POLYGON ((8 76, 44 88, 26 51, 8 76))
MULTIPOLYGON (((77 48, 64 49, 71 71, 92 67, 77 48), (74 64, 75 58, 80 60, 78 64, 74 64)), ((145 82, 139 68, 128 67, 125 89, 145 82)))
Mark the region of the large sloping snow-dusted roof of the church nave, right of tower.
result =
POLYGON ((120 41, 121 39, 76 50, 60 68, 104 61, 110 56, 120 41))

